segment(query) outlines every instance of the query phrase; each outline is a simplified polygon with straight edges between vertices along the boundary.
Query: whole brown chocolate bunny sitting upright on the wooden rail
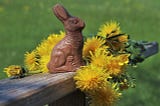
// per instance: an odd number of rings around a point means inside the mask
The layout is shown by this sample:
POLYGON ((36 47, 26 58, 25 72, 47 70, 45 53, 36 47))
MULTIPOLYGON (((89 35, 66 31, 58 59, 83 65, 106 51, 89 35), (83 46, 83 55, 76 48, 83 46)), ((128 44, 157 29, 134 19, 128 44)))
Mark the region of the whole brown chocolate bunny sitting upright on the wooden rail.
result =
POLYGON ((82 30, 85 23, 80 18, 71 16, 60 4, 54 6, 53 12, 63 23, 66 35, 53 48, 47 67, 50 73, 76 71, 84 65, 82 30))

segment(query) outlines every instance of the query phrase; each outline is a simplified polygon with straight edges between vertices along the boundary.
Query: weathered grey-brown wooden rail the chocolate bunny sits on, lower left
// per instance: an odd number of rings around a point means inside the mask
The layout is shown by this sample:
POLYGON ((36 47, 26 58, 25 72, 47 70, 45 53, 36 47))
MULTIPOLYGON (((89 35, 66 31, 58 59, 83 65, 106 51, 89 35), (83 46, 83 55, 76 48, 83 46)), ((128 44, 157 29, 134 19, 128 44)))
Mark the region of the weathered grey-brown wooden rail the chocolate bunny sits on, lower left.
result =
POLYGON ((0 106, 42 106, 75 91, 75 73, 37 74, 0 81, 0 106))

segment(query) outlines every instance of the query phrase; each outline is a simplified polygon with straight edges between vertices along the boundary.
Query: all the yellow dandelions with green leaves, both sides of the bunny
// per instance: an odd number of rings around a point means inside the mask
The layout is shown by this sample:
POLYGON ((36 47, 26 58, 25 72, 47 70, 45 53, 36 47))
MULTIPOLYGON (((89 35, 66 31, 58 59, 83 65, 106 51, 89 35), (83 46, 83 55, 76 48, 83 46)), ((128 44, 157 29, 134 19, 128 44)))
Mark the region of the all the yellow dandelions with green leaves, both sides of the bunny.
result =
MULTIPOLYGON (((49 35, 33 51, 26 52, 24 66, 11 65, 4 72, 11 78, 47 73, 51 50, 64 35, 62 31, 49 35)), ((111 106, 122 90, 135 86, 127 67, 143 61, 142 49, 141 42, 130 40, 116 21, 105 23, 95 36, 86 39, 83 59, 87 64, 76 71, 74 80, 91 106, 111 106)))

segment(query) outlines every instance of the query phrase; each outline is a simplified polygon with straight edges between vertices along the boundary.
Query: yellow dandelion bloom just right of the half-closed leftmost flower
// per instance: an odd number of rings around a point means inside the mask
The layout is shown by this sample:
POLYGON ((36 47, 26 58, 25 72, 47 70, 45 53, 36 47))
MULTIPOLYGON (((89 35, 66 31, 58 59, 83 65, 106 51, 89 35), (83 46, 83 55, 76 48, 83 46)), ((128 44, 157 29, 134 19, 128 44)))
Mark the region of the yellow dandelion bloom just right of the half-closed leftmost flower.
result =
POLYGON ((39 55, 36 50, 33 50, 31 53, 27 52, 25 54, 24 63, 26 68, 29 71, 35 71, 39 69, 39 55))

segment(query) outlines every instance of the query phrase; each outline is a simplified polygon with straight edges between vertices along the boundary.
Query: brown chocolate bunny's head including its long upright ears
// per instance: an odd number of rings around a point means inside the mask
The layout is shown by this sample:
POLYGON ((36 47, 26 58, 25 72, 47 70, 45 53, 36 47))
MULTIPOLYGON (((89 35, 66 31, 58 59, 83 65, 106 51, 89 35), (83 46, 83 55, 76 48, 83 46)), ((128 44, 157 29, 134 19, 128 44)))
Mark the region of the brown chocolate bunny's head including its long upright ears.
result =
POLYGON ((66 31, 81 31, 85 27, 85 23, 80 18, 71 16, 60 4, 54 6, 53 12, 55 16, 63 23, 66 31))

